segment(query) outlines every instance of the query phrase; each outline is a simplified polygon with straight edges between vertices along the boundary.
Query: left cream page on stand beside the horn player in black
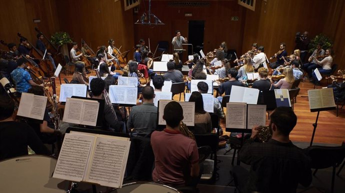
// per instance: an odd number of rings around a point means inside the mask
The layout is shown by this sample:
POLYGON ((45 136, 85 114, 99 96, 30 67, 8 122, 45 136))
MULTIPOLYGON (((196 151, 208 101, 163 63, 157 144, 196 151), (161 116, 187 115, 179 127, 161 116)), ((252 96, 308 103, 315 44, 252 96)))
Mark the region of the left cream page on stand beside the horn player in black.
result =
POLYGON ((246 110, 245 103, 226 103, 226 128, 245 129, 246 110))

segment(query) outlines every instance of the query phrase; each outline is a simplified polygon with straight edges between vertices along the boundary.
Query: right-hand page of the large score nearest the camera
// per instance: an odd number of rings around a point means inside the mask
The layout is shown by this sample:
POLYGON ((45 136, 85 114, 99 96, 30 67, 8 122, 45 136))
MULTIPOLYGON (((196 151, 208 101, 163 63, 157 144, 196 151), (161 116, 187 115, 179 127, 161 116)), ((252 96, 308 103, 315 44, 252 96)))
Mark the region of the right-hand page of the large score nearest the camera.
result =
POLYGON ((130 142, 97 137, 87 182, 120 188, 123 181, 130 142))

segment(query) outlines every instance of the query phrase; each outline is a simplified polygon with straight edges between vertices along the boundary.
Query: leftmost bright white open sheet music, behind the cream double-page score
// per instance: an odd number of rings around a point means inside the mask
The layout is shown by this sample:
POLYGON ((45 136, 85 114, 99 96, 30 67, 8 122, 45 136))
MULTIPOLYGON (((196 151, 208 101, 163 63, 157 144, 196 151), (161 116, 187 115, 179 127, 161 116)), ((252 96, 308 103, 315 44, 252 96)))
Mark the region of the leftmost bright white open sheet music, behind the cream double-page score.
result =
POLYGON ((66 102, 71 96, 86 97, 86 88, 84 84, 61 84, 59 101, 66 102))

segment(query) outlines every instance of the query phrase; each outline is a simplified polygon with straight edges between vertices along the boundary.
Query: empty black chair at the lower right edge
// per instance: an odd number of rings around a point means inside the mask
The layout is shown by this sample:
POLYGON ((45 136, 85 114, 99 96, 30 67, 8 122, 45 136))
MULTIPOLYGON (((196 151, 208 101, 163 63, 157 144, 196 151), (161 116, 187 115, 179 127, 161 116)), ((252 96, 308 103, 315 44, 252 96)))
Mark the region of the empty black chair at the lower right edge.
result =
POLYGON ((305 149, 311 158, 311 168, 315 169, 312 175, 315 176, 318 169, 333 167, 330 192, 334 191, 335 168, 337 168, 345 158, 345 146, 326 147, 310 146, 305 149))

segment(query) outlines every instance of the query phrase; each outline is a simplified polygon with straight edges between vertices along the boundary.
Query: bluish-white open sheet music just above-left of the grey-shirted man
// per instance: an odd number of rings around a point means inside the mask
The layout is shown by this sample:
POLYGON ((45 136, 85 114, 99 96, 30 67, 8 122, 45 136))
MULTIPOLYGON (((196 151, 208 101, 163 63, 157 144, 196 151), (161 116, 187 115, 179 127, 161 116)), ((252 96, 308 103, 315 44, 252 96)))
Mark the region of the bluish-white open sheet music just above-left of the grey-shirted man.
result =
POLYGON ((110 85, 109 98, 113 104, 136 105, 137 87, 110 85))

